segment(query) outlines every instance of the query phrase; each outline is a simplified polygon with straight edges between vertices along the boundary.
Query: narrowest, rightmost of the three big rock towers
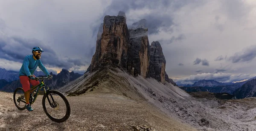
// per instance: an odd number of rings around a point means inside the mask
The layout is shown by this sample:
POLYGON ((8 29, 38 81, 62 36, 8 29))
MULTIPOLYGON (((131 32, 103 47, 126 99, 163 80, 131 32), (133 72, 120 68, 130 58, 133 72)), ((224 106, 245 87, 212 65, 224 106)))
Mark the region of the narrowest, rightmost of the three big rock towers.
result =
POLYGON ((163 50, 158 41, 150 45, 149 75, 157 81, 165 81, 166 60, 163 50))

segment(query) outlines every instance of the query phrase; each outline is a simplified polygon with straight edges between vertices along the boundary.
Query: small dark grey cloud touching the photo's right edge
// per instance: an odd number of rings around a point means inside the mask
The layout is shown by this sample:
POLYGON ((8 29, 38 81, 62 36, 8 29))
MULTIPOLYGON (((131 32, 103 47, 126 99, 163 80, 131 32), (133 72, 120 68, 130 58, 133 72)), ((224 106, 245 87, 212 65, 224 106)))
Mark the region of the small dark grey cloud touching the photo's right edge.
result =
POLYGON ((256 57, 256 46, 251 46, 241 52, 235 53, 228 59, 232 63, 252 61, 256 57))

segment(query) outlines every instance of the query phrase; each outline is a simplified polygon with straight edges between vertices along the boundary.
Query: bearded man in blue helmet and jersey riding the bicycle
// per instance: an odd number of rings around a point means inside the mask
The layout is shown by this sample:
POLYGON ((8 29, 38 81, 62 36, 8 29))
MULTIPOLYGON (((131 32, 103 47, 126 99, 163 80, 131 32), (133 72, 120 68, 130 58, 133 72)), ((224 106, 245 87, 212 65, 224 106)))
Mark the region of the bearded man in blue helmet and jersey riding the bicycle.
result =
POLYGON ((32 55, 28 55, 25 57, 19 72, 20 83, 22 84, 22 88, 25 92, 26 109, 28 111, 34 110, 29 104, 30 84, 32 84, 32 86, 34 87, 39 84, 39 81, 36 81, 35 75, 33 75, 36 68, 39 67, 44 72, 44 74, 46 74, 50 78, 52 77, 52 75, 49 74, 49 72, 40 60, 42 52, 44 52, 44 50, 41 47, 33 47, 32 55))

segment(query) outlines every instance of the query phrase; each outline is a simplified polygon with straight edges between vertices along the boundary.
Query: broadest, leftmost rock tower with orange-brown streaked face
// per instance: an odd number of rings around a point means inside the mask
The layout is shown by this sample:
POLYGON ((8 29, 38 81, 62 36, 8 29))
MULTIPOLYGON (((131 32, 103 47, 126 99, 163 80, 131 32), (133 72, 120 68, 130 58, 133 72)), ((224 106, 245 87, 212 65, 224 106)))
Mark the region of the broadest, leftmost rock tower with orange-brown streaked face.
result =
POLYGON ((90 72, 111 64, 127 68, 129 32, 123 16, 105 16, 102 37, 97 39, 90 72))

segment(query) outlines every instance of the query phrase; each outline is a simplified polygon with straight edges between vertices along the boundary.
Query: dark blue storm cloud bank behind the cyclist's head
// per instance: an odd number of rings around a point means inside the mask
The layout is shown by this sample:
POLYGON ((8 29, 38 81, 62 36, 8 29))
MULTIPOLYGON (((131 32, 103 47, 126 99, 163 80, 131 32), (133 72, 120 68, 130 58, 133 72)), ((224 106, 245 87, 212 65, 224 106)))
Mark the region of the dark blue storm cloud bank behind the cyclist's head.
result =
POLYGON ((60 67, 70 69, 74 66, 83 66, 86 64, 85 61, 80 59, 60 59, 49 46, 44 45, 37 39, 23 39, 20 37, 9 37, 0 35, 0 58, 23 62, 26 55, 32 54, 32 48, 35 46, 41 47, 44 52, 41 55, 41 61, 44 65, 49 67, 60 67))

